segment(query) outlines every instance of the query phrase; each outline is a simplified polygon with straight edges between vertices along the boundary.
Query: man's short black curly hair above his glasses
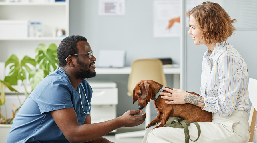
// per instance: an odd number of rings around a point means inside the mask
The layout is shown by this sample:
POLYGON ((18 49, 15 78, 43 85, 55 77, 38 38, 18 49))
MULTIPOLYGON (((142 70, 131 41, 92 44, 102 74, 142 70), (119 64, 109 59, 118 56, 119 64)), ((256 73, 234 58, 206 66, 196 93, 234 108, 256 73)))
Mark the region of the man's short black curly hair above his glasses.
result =
MULTIPOLYGON (((69 55, 77 54, 78 48, 77 43, 78 41, 87 41, 87 39, 83 36, 69 36, 64 38, 57 49, 57 58, 59 60, 59 66, 65 67, 66 61, 64 60, 69 55)), ((77 57, 77 55, 75 55, 77 57)))

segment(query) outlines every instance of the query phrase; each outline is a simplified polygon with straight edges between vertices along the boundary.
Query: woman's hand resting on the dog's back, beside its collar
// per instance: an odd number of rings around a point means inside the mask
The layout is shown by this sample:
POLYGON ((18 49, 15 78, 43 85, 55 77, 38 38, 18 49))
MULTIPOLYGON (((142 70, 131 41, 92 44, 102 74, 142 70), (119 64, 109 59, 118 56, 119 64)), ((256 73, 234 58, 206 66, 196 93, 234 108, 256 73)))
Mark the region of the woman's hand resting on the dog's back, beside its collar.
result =
POLYGON ((173 100, 173 101, 165 101, 167 104, 185 104, 188 103, 185 101, 186 95, 188 95, 188 92, 181 90, 181 89, 169 89, 169 88, 162 88, 162 90, 165 90, 169 93, 161 92, 160 96, 163 99, 173 100))

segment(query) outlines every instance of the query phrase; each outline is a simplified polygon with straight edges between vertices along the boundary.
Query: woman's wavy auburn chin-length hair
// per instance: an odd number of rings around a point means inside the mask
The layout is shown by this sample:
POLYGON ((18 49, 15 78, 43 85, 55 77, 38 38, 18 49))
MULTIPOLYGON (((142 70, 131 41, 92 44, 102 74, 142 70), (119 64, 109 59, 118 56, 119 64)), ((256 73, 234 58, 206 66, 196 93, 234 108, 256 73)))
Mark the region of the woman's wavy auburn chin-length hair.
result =
MULTIPOLYGON (((233 24, 236 19, 231 19, 218 3, 203 2, 194 7, 188 13, 188 17, 190 15, 195 18, 202 30, 202 43, 203 41, 208 44, 225 41, 236 30, 233 24)), ((190 24, 189 27, 191 27, 190 24)))

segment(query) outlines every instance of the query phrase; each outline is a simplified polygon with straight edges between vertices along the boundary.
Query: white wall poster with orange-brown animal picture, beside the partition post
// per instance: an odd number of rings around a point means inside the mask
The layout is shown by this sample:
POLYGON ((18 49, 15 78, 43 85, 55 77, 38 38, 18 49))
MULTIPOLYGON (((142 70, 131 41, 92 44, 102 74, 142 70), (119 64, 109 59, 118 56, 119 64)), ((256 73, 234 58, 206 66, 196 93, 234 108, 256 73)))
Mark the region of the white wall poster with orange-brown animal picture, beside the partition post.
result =
POLYGON ((180 0, 156 0, 153 8, 154 37, 180 37, 180 0), (170 20, 174 23, 168 28, 170 20))

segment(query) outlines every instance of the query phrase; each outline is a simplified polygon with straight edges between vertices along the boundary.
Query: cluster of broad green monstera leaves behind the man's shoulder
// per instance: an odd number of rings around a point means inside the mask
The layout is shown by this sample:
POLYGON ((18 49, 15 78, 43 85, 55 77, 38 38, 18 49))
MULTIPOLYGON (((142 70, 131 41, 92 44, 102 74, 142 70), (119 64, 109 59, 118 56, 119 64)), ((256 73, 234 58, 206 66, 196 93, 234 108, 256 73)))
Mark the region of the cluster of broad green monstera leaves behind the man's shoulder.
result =
POLYGON ((21 61, 19 61, 18 57, 14 54, 7 59, 5 67, 11 64, 11 72, 8 76, 5 76, 5 82, 10 85, 17 85, 18 80, 23 82, 23 80, 27 79, 26 74, 29 74, 28 79, 33 90, 37 84, 45 78, 45 76, 49 75, 57 68, 57 46, 55 44, 49 45, 48 48, 44 44, 39 44, 38 46, 39 47, 35 50, 37 53, 35 59, 25 56, 21 61), (29 64, 33 65, 36 70, 31 70, 28 66, 29 64))

